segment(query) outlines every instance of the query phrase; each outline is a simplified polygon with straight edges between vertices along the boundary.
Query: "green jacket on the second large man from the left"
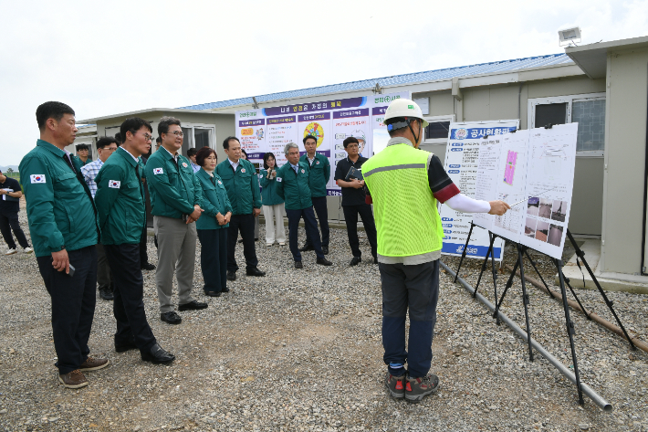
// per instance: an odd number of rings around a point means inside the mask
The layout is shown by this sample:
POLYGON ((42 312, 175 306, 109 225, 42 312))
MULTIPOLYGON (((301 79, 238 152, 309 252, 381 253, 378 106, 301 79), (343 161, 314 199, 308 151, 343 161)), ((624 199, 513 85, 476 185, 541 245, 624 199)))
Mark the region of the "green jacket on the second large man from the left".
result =
POLYGON ((102 245, 136 245, 146 225, 141 164, 119 148, 97 174, 95 205, 99 211, 102 245), (137 167, 138 171, 135 171, 137 167))

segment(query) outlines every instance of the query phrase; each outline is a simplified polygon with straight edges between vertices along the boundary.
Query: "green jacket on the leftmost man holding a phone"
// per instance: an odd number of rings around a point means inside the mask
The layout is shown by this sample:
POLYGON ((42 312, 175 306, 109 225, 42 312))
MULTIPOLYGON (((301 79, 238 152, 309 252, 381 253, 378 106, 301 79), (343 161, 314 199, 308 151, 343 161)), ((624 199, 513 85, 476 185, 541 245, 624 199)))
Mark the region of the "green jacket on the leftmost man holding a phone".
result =
POLYGON ((61 248, 77 250, 99 241, 97 208, 88 185, 79 177, 81 166, 70 169, 65 152, 38 140, 36 148, 20 162, 20 183, 27 203, 29 232, 37 257, 61 248))

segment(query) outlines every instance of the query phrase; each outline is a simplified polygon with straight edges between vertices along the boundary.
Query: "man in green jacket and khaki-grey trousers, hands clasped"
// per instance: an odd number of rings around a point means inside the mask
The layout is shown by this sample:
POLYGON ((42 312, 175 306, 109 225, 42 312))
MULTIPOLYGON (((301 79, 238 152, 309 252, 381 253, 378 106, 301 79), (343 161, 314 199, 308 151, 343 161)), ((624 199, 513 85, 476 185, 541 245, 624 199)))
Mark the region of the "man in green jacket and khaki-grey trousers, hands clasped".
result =
POLYGON ((144 169, 158 239, 155 283, 161 320, 180 324, 183 319, 173 310, 171 303, 174 270, 178 279, 178 310, 207 307, 207 303, 193 300, 191 296, 197 238, 193 222, 203 213, 200 208, 202 193, 189 159, 178 153, 183 147, 184 135, 180 121, 173 117, 162 117, 158 123, 158 134, 162 137, 162 146, 152 154, 144 169))

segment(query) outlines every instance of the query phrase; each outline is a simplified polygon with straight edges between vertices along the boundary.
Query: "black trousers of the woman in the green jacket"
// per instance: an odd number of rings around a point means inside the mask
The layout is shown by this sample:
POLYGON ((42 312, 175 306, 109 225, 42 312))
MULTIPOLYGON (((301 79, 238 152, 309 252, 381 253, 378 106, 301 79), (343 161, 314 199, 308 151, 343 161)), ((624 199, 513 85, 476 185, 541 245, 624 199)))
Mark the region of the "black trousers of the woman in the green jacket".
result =
POLYGON ((227 228, 198 229, 203 290, 221 292, 227 288, 227 228))

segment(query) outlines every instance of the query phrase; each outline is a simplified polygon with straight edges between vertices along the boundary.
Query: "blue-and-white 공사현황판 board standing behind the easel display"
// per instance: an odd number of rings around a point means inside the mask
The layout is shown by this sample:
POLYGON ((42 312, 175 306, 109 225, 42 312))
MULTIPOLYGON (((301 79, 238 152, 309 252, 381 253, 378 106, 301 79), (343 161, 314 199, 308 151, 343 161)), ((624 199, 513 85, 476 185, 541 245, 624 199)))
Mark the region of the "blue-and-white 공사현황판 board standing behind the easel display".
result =
MULTIPOLYGON (((445 152, 445 171, 452 181, 461 190, 462 194, 475 198, 477 194, 477 163, 480 158, 484 137, 495 141, 510 131, 517 130, 517 120, 502 121, 465 121, 450 123, 450 135, 445 152)), ((498 145, 498 144, 497 144, 498 145)), ((480 185, 481 186, 481 185, 480 185)), ((480 187, 479 193, 487 194, 480 187)), ((481 195, 479 195, 481 196, 481 195)), ((495 199, 486 196, 487 201, 495 199)), ((444 227, 444 246, 441 252, 444 255, 461 256, 465 248, 465 240, 470 231, 473 215, 456 212, 447 205, 441 205, 439 213, 444 227)), ((466 257, 484 258, 488 250, 490 239, 486 229, 475 227, 470 237, 466 257)), ((497 260, 503 257, 504 241, 497 238, 494 244, 494 255, 497 260)))

